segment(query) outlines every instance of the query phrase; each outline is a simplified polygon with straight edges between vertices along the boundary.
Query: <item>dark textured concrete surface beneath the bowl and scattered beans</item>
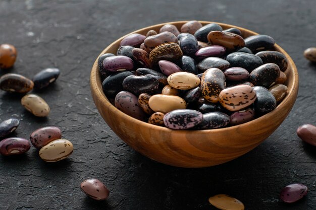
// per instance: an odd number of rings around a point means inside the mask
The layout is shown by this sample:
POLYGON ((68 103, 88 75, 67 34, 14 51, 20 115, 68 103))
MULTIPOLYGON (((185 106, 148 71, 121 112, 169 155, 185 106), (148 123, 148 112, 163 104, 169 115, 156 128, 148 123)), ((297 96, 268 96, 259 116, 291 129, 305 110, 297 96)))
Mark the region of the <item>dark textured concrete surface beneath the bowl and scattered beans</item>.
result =
MULTIPOLYGON (((216 209, 208 197, 240 199, 246 209, 316 209, 316 148, 303 144, 296 128, 316 124, 316 65, 302 55, 316 46, 315 2, 280 1, 8 1, 0 0, 0 43, 18 50, 14 68, 1 71, 32 78, 54 66, 61 76, 34 92, 50 105, 36 118, 20 105, 21 95, 0 92, 0 120, 21 120, 12 136, 28 137, 56 125, 74 145, 73 155, 45 163, 32 147, 17 157, 0 157, 0 209, 216 209), (182 169, 156 163, 125 145, 98 114, 89 89, 91 66, 111 42, 152 24, 204 20, 238 25, 275 38, 297 65, 300 87, 283 124, 260 146, 229 163, 182 169), (105 201, 80 191, 89 177, 110 189, 105 201), (279 199, 291 183, 308 186, 293 204, 279 199)), ((273 122, 272 122, 273 123, 273 122)))

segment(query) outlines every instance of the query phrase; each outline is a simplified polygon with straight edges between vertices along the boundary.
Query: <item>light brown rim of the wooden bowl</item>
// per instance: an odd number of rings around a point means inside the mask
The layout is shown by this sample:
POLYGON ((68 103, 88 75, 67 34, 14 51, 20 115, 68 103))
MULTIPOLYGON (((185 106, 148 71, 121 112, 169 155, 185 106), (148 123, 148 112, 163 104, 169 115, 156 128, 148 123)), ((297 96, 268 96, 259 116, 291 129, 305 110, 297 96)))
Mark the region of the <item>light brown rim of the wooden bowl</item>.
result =
MULTIPOLYGON (((288 61, 288 64, 292 67, 292 71, 293 71, 293 80, 292 81, 287 81, 288 82, 288 91, 286 94, 286 97, 282 100, 282 102, 280 104, 277 105, 277 107, 267 113, 264 114, 258 118, 255 118, 251 121, 242 123, 242 124, 238 124, 238 125, 233 125, 233 126, 229 126, 229 127, 223 127, 223 128, 215 128, 215 129, 205 129, 205 130, 175 130, 175 129, 171 129, 171 128, 167 128, 167 127, 162 127, 162 126, 158 126, 158 125, 153 125, 141 120, 138 120, 136 118, 133 118, 127 114, 125 114, 124 112, 120 111, 119 109, 117 109, 114 105, 112 105, 112 103, 109 101, 109 99, 104 95, 103 91, 102 91, 102 81, 101 81, 101 77, 100 77, 100 73, 98 71, 98 65, 97 65, 97 60, 98 57, 102 54, 104 54, 106 51, 108 51, 113 45, 115 45, 116 43, 120 43, 120 41, 122 39, 124 39, 125 37, 134 34, 134 33, 141 33, 142 31, 148 31, 148 30, 152 30, 152 28, 156 28, 156 27, 161 27, 165 24, 184 24, 187 23, 188 21, 174 21, 174 22, 166 22, 166 23, 160 23, 160 24, 156 24, 156 25, 151 25, 148 27, 144 27, 141 29, 138 29, 136 31, 133 31, 131 33, 128 33, 124 36, 122 36, 121 38, 115 40, 114 42, 112 42, 108 47, 106 47, 104 50, 102 50, 102 52, 97 56, 92 69, 91 69, 91 74, 90 74, 90 89, 91 89, 91 93, 94 92, 94 94, 96 95, 96 98, 98 98, 98 100, 100 100, 100 102, 103 104, 104 109, 107 108, 109 109, 109 112, 115 112, 117 114, 120 114, 121 117, 124 118, 124 120, 130 121, 131 123, 138 123, 140 124, 139 126, 143 127, 144 129, 156 129, 156 130, 160 130, 162 132, 164 131, 170 131, 172 130, 173 132, 192 132, 192 134, 194 133, 210 133, 210 132, 223 132, 223 131, 230 131, 230 130, 234 130, 237 127, 249 127, 251 126, 251 123, 253 122, 264 122, 267 121, 267 119, 269 118, 273 118, 273 115, 277 114, 279 110, 281 109, 285 109, 288 105, 292 106, 295 103, 295 99, 297 97, 298 94, 298 87, 299 87, 299 79, 298 79, 298 72, 297 72, 297 68, 296 65, 293 61, 293 59, 289 56, 289 54, 282 49, 278 44, 275 44, 275 49, 281 53, 283 53, 288 61), (292 105, 291 105, 291 101, 293 101, 292 105)), ((223 28, 237 28, 239 30, 242 31, 242 33, 247 33, 247 34, 253 34, 253 35, 258 35, 258 33, 253 32, 251 30, 239 27, 239 26, 235 26, 235 25, 230 25, 230 24, 225 24, 225 23, 220 23, 220 22, 209 22, 209 21, 198 21, 199 23, 201 23, 203 26, 206 24, 210 24, 210 23, 216 23, 219 24, 220 26, 222 26, 223 28)), ((246 38, 246 37, 245 37, 246 38)), ((288 71, 288 69, 286 70, 288 71)), ((291 111, 292 107, 289 109, 288 113, 291 111)), ((287 114, 288 115, 288 114, 287 114)), ((285 117, 286 118, 286 117, 285 117)), ((283 120, 282 120, 283 121, 283 120)), ((282 122, 281 122, 282 123, 282 122)), ((253 123, 256 124, 256 123, 253 123)))

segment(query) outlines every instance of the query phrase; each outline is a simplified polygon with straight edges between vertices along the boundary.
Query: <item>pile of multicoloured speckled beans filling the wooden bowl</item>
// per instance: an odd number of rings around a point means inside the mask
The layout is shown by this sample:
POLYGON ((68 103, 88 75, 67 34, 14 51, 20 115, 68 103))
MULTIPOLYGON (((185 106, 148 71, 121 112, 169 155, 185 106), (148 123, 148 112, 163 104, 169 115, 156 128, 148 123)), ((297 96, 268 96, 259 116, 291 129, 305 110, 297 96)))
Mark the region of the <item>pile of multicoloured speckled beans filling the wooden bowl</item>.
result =
POLYGON ((288 63, 271 51, 272 37, 197 21, 180 31, 134 33, 116 55, 99 56, 103 92, 119 110, 172 129, 213 129, 262 116, 286 96, 288 63))

